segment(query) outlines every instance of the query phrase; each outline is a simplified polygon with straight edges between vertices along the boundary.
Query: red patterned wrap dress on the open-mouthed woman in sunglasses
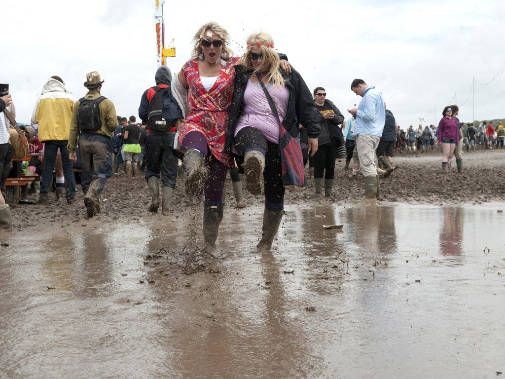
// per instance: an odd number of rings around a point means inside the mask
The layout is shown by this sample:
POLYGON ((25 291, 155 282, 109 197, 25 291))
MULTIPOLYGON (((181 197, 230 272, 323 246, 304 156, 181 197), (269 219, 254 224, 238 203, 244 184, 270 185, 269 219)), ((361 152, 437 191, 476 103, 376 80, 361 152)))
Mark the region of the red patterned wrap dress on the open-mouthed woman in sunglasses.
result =
POLYGON ((233 157, 223 153, 228 128, 229 110, 235 82, 235 63, 238 57, 221 63, 221 70, 211 90, 207 92, 200 80, 198 60, 188 61, 182 66, 188 90, 188 114, 179 129, 179 141, 190 131, 198 131, 207 138, 212 154, 228 167, 233 167, 233 157))

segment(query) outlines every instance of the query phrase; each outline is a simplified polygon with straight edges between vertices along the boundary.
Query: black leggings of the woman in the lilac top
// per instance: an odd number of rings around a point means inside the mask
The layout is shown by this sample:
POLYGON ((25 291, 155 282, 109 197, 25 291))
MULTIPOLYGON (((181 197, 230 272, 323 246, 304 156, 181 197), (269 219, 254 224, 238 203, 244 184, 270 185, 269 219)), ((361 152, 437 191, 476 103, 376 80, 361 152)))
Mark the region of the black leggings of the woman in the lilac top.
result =
POLYGON ((279 145, 267 140, 259 129, 247 126, 237 133, 235 147, 241 156, 249 150, 265 152, 265 171, 263 172, 265 207, 283 210, 285 189, 282 185, 279 145))

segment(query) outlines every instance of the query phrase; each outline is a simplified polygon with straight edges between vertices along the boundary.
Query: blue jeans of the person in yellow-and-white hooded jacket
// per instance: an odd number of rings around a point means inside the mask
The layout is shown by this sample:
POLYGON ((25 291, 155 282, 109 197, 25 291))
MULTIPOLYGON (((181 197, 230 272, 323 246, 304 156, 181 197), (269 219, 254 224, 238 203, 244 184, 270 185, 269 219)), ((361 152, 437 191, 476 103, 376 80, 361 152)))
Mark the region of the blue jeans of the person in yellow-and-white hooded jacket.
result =
POLYGON ((62 156, 63 175, 65 177, 65 197, 73 199, 76 193, 74 164, 69 158, 67 149, 68 140, 47 140, 44 141, 44 174, 40 183, 40 194, 47 195, 49 187, 53 183, 53 171, 55 170, 56 156, 58 149, 62 156))

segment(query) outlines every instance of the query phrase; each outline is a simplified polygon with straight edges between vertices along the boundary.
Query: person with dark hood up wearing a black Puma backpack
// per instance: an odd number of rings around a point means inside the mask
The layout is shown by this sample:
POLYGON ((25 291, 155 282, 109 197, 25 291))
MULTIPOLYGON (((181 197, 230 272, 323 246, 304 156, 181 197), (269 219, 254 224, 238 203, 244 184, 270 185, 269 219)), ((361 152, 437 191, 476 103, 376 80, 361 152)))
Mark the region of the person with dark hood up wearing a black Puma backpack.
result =
MULTIPOLYGON (((172 73, 167 66, 161 66, 156 71, 156 86, 144 91, 138 107, 138 115, 146 122, 147 134, 145 136, 146 161, 145 179, 149 186, 151 204, 149 212, 156 213, 160 206, 158 178, 161 174, 163 184, 162 214, 168 215, 172 194, 177 179, 178 159, 174 156, 175 117, 183 118, 175 99, 170 92, 172 73), (174 118, 165 119, 162 116, 163 108, 174 110, 174 118)), ((165 114, 165 112, 164 112, 165 114)))

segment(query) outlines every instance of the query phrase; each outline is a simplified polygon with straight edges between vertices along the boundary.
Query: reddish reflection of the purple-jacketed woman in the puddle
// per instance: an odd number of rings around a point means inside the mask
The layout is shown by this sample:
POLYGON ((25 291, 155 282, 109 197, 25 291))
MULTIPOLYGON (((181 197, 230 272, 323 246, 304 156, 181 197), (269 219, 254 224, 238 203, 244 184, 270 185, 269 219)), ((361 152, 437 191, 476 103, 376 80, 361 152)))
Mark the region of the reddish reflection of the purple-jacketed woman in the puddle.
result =
POLYGON ((443 255, 461 255, 461 240, 463 230, 463 209, 445 207, 442 210, 443 226, 440 229, 439 245, 443 255))

